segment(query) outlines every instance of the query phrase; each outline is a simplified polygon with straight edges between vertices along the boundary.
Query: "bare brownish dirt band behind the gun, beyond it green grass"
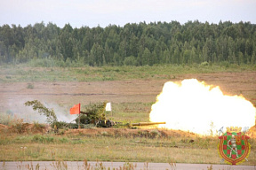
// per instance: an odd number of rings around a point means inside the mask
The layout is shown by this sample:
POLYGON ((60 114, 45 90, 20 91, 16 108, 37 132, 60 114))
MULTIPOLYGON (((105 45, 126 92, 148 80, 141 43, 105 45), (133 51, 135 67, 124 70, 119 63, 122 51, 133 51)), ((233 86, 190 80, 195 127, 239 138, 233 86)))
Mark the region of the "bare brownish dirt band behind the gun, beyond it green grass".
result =
POLYGON ((172 80, 130 80, 92 82, 12 82, 0 83, 0 112, 28 100, 38 99, 62 106, 108 101, 112 103, 155 103, 167 81, 196 78, 220 86, 226 95, 243 95, 256 105, 256 72, 183 74, 172 80), (28 89, 28 83, 33 89, 28 89))

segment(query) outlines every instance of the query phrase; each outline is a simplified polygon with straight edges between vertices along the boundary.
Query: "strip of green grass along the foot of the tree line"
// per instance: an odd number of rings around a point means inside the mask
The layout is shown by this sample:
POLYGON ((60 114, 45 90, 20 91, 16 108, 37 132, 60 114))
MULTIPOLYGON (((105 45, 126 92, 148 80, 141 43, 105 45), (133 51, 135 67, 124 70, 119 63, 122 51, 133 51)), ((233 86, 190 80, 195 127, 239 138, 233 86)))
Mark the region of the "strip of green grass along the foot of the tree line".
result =
MULTIPOLYGON (((256 70, 255 66, 103 66, 33 67, 0 66, 0 82, 31 81, 118 81, 131 79, 174 79, 185 73, 221 73, 256 70)), ((29 88, 29 87, 28 87, 29 88)))

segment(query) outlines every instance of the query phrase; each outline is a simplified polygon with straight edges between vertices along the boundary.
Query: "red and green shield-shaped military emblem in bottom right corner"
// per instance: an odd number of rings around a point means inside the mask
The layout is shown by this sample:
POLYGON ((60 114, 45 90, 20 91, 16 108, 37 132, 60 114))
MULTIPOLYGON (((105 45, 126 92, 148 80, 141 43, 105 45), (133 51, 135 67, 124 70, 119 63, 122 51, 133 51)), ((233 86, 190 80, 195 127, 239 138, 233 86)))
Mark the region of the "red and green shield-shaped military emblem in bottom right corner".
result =
POLYGON ((248 128, 227 128, 227 132, 219 136, 220 143, 218 144, 218 151, 222 160, 228 164, 237 165, 244 160, 248 161, 251 151, 251 145, 248 143, 249 136, 245 135, 248 128))

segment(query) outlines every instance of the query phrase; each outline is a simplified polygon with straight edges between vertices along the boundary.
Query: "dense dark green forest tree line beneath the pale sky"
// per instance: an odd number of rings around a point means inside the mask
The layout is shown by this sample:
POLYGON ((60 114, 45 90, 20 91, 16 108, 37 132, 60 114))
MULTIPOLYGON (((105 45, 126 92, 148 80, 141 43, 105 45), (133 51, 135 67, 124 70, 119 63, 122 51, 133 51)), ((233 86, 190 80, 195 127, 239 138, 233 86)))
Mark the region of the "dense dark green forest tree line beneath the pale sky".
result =
POLYGON ((198 20, 128 23, 124 27, 63 28, 49 22, 0 27, 0 64, 52 59, 88 66, 256 64, 256 27, 250 22, 198 20))

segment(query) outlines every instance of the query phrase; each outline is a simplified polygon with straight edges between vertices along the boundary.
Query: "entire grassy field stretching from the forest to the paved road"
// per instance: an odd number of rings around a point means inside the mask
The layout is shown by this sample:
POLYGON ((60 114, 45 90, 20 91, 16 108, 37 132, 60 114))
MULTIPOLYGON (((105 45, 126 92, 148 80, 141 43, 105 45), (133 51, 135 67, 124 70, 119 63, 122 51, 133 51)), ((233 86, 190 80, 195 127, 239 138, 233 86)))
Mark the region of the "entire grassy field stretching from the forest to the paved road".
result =
MULTIPOLYGON (((89 128, 84 131, 68 130, 62 135, 31 130, 19 133, 17 120, 22 113, 26 113, 38 127, 37 121, 42 117, 24 109, 24 102, 39 99, 45 104, 57 105, 52 107, 66 116, 70 106, 78 102, 88 104, 107 100, 113 104, 113 116, 108 112, 108 118, 123 123, 148 121, 151 105, 156 102, 164 82, 185 78, 198 78, 220 85, 226 93, 243 94, 256 105, 255 71, 255 66, 232 65, 0 66, 0 124, 12 127, 0 128, 0 160, 86 159, 219 164, 218 136, 198 136, 157 128, 89 128), (16 130, 13 130, 13 126, 16 130)), ((255 165, 255 136, 251 137, 249 143, 252 146, 251 154, 249 161, 243 164, 255 165)))

